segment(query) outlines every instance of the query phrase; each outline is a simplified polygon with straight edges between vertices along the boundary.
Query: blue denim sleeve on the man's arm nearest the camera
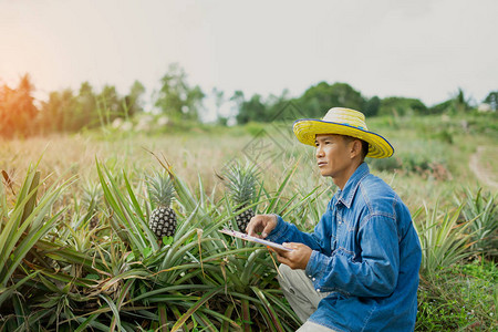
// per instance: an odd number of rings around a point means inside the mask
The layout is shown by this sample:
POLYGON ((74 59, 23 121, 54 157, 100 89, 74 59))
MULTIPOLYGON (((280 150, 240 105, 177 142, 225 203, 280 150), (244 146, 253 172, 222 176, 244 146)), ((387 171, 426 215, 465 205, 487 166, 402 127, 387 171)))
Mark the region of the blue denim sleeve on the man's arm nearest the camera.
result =
POLYGON ((387 297, 394 291, 400 268, 396 220, 383 215, 367 217, 357 241, 361 257, 341 248, 331 256, 312 252, 305 273, 318 291, 355 297, 387 297))

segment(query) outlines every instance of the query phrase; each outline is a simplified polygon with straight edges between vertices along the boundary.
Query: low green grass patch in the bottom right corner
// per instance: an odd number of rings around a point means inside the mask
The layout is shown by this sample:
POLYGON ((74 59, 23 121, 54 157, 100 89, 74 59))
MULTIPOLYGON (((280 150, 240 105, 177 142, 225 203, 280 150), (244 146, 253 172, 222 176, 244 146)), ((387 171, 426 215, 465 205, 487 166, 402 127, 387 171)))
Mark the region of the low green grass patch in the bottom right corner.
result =
POLYGON ((474 260, 423 279, 417 331, 496 331, 498 264, 474 260))

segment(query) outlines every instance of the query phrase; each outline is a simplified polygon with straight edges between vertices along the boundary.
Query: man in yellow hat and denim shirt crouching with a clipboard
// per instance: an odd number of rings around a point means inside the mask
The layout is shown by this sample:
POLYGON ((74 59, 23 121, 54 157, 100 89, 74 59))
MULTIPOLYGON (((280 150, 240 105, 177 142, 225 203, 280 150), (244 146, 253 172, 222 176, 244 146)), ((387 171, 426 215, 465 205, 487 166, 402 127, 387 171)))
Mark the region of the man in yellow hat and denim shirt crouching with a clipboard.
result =
POLYGON ((364 163, 390 157, 393 147, 349 108, 299 120, 293 131, 315 146, 321 175, 339 190, 312 234, 276 215, 253 217, 247 232, 293 249, 277 258, 282 291, 304 322, 298 331, 413 331, 418 237, 407 207, 364 163))

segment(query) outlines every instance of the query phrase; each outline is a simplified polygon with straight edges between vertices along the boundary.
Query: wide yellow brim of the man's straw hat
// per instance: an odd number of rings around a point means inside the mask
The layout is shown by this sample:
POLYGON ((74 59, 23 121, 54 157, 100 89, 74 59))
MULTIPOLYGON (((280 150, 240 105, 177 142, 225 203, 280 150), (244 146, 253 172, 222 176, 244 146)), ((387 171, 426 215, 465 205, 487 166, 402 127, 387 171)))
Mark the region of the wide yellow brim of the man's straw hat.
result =
POLYGON ((315 137, 320 134, 336 134, 360 138, 369 143, 367 157, 387 158, 394 154, 394 147, 384 137, 373 132, 356 128, 346 124, 303 118, 294 122, 293 131, 299 142, 315 146, 315 137))

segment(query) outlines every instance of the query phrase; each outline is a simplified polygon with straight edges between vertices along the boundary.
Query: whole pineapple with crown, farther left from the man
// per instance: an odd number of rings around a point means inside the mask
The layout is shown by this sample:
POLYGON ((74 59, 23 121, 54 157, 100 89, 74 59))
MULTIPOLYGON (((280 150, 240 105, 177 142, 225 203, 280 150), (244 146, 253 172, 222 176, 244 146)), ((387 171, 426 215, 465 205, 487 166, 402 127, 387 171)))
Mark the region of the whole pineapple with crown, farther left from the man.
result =
POLYGON ((157 238, 172 237, 176 231, 176 214, 170 208, 175 188, 169 177, 156 174, 149 178, 148 190, 156 208, 151 214, 148 227, 157 238))

